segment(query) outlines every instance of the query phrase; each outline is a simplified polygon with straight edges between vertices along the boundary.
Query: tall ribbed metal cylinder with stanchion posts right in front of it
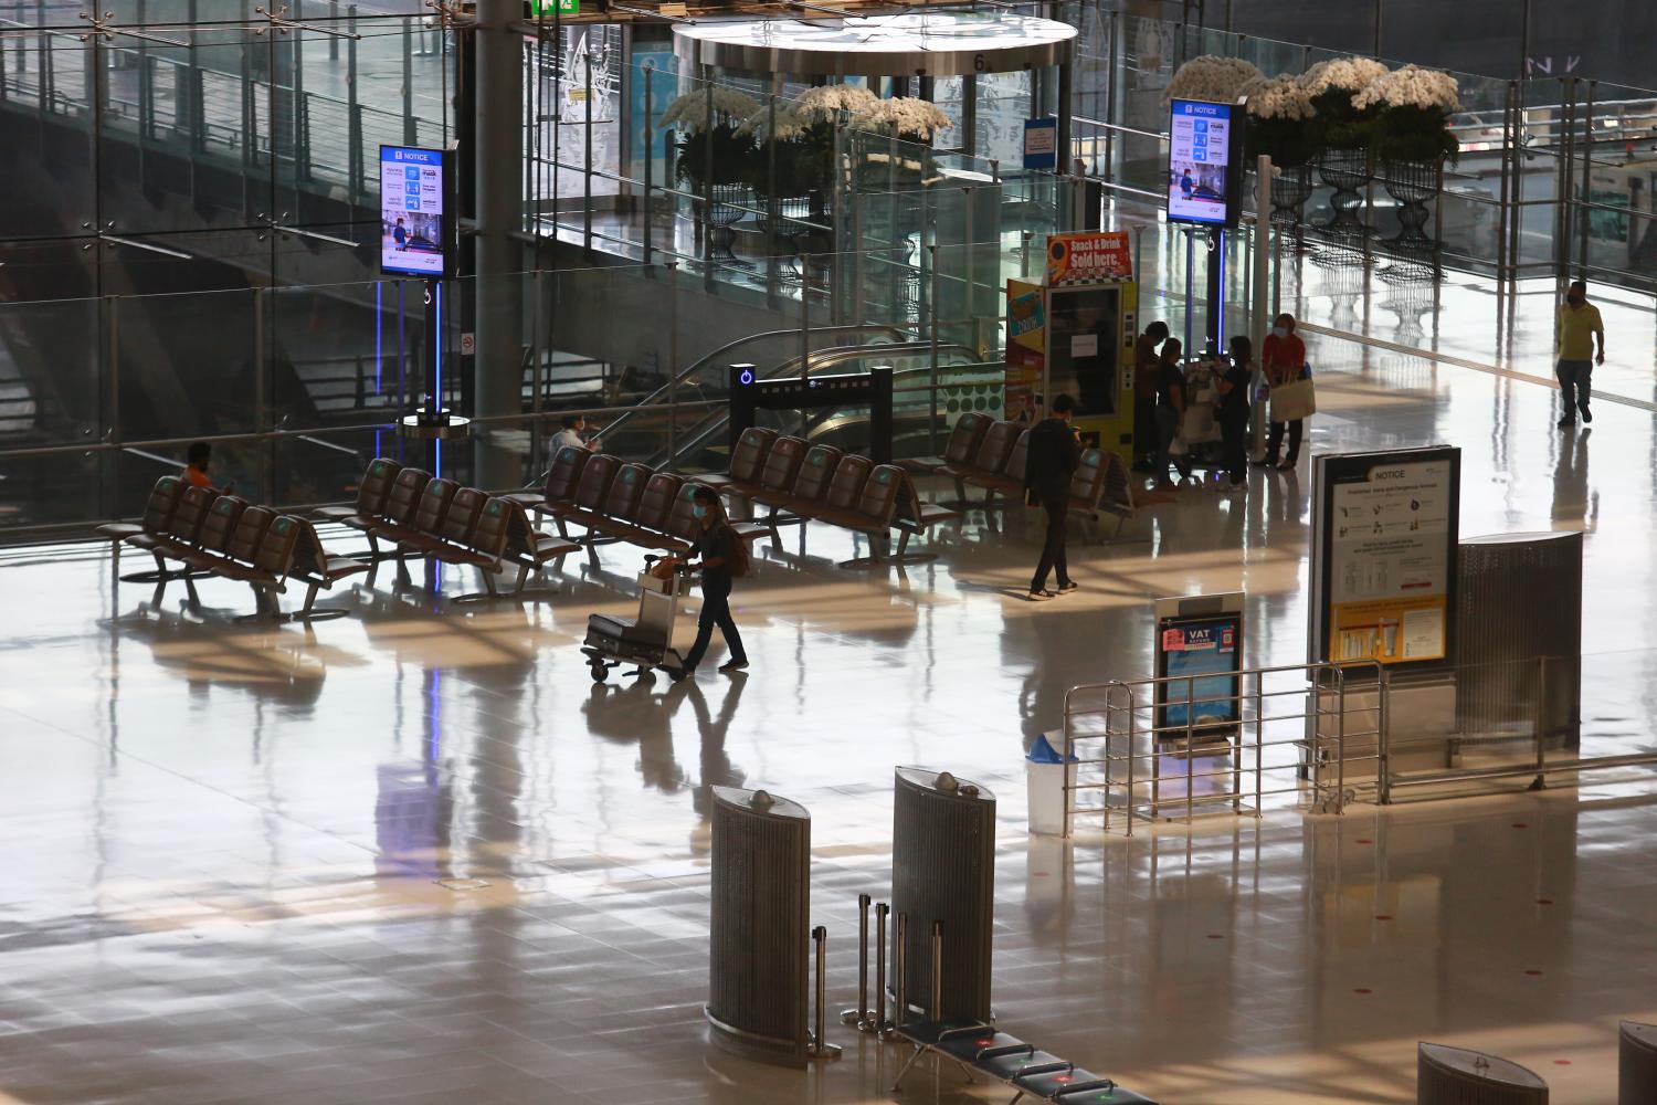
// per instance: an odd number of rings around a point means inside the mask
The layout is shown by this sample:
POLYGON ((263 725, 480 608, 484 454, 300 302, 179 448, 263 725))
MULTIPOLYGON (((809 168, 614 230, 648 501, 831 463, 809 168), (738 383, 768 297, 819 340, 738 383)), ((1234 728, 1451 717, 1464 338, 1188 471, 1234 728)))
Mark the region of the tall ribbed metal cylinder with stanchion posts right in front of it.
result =
MULTIPOLYGON (((926 767, 896 769, 891 911, 908 914, 905 997, 931 1002, 931 929, 943 924, 943 1016, 989 1019, 996 795, 926 767)), ((896 963, 893 939, 893 963, 896 963)), ((926 1009, 926 1014, 936 1014, 926 1009)), ((898 1011, 900 1019, 906 1019, 898 1011)))

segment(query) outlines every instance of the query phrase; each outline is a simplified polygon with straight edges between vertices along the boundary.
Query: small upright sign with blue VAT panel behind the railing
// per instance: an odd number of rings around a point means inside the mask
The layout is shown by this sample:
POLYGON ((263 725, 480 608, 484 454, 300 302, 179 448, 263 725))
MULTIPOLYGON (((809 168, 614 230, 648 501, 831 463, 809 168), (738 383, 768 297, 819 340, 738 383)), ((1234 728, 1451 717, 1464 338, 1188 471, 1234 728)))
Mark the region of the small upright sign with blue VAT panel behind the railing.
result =
POLYGON ((1157 626, 1158 739, 1213 741, 1241 721, 1243 615, 1163 618, 1157 626))

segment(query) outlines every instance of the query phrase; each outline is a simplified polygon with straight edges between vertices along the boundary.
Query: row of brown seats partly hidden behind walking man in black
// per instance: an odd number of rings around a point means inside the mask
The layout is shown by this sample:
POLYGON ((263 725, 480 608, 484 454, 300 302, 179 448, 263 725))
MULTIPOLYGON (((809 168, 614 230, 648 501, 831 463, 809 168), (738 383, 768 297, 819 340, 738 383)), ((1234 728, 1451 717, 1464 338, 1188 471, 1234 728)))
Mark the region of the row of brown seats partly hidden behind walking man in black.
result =
MULTIPOLYGON (((913 462, 925 472, 954 480, 956 497, 966 504, 968 485, 984 490, 984 504, 996 495, 1007 502, 1024 495, 1024 461, 1031 427, 1001 422, 988 414, 968 413, 956 419, 943 457, 913 462)), ((1070 510, 1092 522, 1099 514, 1133 517, 1132 477, 1127 464, 1104 449, 1082 449, 1082 462, 1070 477, 1070 510)))

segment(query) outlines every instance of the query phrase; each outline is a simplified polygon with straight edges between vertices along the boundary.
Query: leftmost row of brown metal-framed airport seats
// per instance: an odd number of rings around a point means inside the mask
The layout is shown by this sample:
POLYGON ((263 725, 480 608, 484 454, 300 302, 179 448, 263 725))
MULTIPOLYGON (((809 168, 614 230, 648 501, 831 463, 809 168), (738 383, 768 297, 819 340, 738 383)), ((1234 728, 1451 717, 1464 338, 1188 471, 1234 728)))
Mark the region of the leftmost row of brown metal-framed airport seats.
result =
POLYGON ((370 568, 328 555, 305 519, 187 485, 177 475, 156 480, 136 524, 101 525, 98 533, 113 543, 116 570, 123 545, 156 558, 156 572, 141 577, 156 583, 156 603, 169 581, 182 580, 191 603, 199 605, 194 580, 220 577, 252 586, 258 615, 272 618, 283 616, 277 595, 287 591, 290 580, 308 586, 303 608, 290 615, 293 620, 338 616, 343 611, 315 610, 316 593, 370 568))

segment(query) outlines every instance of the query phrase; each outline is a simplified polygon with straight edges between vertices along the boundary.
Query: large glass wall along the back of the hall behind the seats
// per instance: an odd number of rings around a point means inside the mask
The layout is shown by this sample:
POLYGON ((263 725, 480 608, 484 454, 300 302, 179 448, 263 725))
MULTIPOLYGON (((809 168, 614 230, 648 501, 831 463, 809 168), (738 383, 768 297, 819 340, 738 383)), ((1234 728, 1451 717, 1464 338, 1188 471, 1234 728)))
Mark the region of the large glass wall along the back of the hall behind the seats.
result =
MULTIPOLYGON (((370 456, 414 447, 396 434, 413 404, 476 409, 479 302, 522 305, 522 403, 447 449, 456 474, 489 449, 532 480, 568 409, 630 456, 713 464, 731 361, 891 363, 915 404, 903 447, 928 451, 951 411, 993 404, 973 389, 996 378, 1004 282, 1039 273, 1047 234, 1133 230, 1143 311, 1200 335, 1200 244, 1162 219, 1167 84, 1200 53, 1268 73, 1334 56, 1065 0, 1069 152, 1090 181, 1019 167, 1041 86, 1022 73, 940 81, 951 126, 930 144, 837 118, 802 176, 766 138, 804 86, 681 75, 664 28, 525 27, 524 268, 540 272, 428 297, 378 273, 378 146, 457 138, 466 33, 413 0, 295 0, 282 25, 252 0, 204 7, 123 0, 88 33, 71 8, 0 0, 0 141, 25 151, 0 174, 0 527, 131 515, 202 437, 262 500, 343 499, 370 456), (714 174, 686 131, 698 101, 751 104, 714 174)), ((1657 93, 1460 81, 1438 260, 1657 282, 1657 162, 1639 156, 1657 93)), ((1395 205, 1365 199, 1387 260, 1395 205)), ((1244 257, 1228 257, 1234 303, 1253 293, 1244 257)))

